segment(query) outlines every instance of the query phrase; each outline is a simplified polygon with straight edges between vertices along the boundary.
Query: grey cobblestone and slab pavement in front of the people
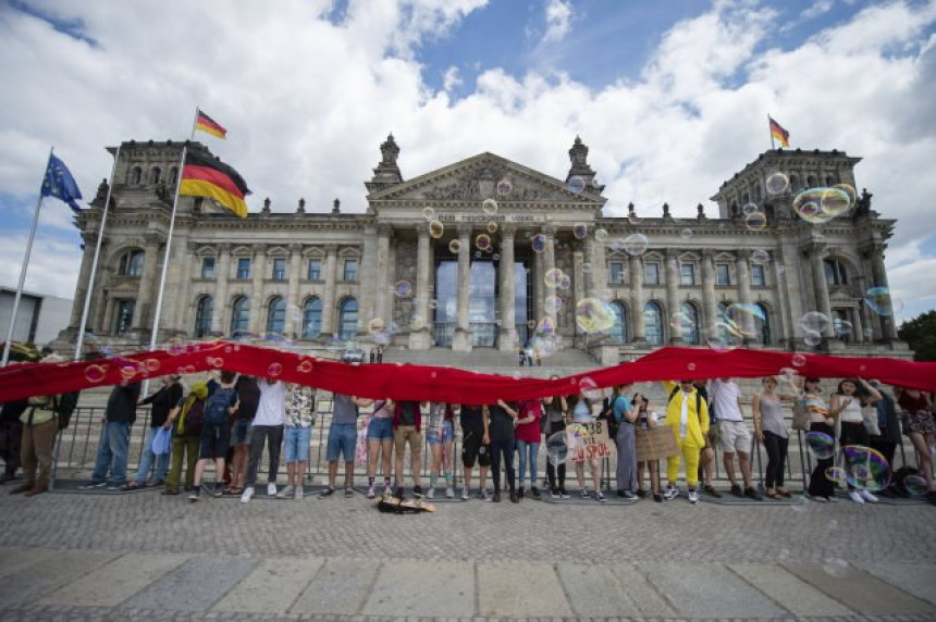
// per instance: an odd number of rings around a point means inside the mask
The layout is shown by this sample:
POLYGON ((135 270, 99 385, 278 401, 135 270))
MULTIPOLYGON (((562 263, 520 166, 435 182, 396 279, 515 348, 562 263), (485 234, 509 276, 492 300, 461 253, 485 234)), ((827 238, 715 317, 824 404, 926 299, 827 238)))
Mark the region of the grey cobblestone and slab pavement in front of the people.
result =
POLYGON ((0 620, 936 620, 936 508, 0 487, 0 620))

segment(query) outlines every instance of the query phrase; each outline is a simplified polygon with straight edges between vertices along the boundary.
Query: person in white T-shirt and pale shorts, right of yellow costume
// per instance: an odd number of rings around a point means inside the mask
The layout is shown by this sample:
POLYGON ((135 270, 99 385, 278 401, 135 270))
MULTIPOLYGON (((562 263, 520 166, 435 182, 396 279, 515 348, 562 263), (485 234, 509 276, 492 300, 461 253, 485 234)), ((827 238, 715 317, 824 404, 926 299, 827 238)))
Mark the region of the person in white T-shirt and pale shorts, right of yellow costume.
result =
POLYGON ((763 500, 761 494, 751 485, 751 432, 744 424, 744 413, 741 410, 741 387, 731 378, 712 378, 709 381, 709 398, 718 416, 722 457, 725 473, 731 483, 731 494, 755 501, 763 500), (744 478, 743 490, 735 475, 735 453, 738 455, 738 465, 744 478))

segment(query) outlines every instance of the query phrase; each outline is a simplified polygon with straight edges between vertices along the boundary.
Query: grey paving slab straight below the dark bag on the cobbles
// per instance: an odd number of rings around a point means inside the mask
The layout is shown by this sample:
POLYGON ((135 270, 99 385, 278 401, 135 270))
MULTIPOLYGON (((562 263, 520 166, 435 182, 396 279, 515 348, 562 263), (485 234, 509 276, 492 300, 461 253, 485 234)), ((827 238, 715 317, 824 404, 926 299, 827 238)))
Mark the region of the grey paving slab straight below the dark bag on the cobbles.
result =
POLYGON ((475 564, 408 561, 383 564, 365 615, 459 617, 475 613, 475 564))

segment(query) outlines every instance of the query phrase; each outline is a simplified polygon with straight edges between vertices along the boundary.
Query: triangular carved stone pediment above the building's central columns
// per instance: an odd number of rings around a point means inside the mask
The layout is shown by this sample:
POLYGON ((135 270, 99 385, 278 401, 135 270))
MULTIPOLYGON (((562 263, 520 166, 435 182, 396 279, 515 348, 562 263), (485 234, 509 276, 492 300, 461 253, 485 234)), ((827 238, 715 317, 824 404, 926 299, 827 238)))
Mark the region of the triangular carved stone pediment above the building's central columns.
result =
POLYGON ((498 203, 566 203, 601 208, 605 199, 506 158, 481 153, 419 177, 372 192, 368 200, 385 203, 465 203, 494 199, 498 203))

